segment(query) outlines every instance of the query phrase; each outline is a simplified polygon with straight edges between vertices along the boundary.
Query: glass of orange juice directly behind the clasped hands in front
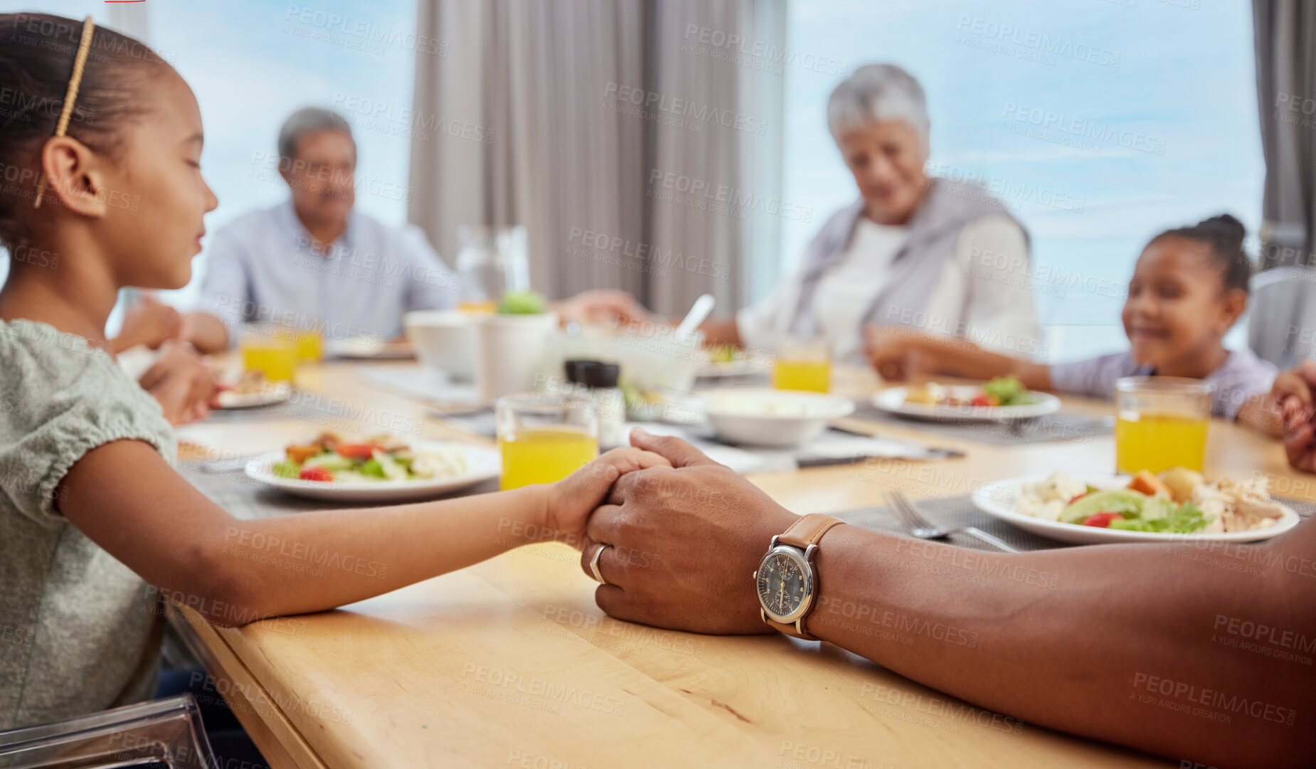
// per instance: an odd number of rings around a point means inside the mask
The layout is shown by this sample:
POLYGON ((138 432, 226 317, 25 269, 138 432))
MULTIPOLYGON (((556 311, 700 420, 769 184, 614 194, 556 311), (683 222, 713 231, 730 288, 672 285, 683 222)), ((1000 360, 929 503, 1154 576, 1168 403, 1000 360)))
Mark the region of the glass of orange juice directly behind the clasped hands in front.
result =
POLYGON ((553 483, 599 456, 599 415, 592 400, 528 394, 497 399, 501 489, 553 483))

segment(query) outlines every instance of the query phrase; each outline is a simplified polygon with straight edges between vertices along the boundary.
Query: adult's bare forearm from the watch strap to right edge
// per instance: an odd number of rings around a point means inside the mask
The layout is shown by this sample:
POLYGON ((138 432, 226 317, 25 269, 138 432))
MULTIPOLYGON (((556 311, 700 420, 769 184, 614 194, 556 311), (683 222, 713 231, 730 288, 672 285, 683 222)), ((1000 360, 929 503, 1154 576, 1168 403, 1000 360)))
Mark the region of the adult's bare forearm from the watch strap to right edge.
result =
MULTIPOLYGON (((1009 556, 838 527, 820 548, 808 628, 1005 716, 1175 758, 1296 766, 1312 743, 1311 668, 1220 639, 1242 622, 1316 639, 1309 612, 1195 554, 1009 556)), ((1279 590, 1290 575, 1267 577, 1279 590)))

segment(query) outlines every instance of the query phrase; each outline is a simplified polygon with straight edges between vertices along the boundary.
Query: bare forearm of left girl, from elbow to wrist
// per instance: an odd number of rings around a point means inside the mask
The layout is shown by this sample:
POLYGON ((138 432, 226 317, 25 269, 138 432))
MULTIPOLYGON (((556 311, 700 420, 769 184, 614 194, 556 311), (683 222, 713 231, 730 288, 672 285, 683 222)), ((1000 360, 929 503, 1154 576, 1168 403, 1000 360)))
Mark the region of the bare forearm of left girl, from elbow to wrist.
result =
POLYGON ((540 525, 545 494, 545 486, 526 486, 437 503, 232 520, 207 546, 208 581, 233 607, 212 619, 242 624, 324 611, 551 539, 540 525))

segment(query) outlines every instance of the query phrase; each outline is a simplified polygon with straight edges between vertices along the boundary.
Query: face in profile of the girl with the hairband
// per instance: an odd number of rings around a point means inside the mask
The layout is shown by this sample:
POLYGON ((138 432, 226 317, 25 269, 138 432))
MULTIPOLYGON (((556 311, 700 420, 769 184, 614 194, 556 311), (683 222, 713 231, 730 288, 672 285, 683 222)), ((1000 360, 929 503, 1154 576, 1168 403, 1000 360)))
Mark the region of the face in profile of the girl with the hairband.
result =
POLYGON ((151 88, 149 113, 126 130, 121 162, 107 169, 100 242, 120 284, 182 288, 201 250, 201 217, 218 200, 201 179, 201 111, 183 78, 151 88))

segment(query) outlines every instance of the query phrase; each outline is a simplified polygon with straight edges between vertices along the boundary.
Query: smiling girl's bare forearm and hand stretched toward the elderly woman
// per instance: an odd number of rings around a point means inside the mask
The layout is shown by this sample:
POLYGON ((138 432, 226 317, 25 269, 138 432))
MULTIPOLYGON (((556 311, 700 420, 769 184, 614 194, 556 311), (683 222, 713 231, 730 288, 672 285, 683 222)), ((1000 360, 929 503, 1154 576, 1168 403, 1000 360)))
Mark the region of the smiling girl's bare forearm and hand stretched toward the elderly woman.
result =
POLYGON ((946 374, 973 379, 1017 377, 1029 390, 1050 390, 1050 366, 984 350, 969 340, 942 337, 903 327, 865 329, 866 352, 884 379, 912 374, 946 374))

